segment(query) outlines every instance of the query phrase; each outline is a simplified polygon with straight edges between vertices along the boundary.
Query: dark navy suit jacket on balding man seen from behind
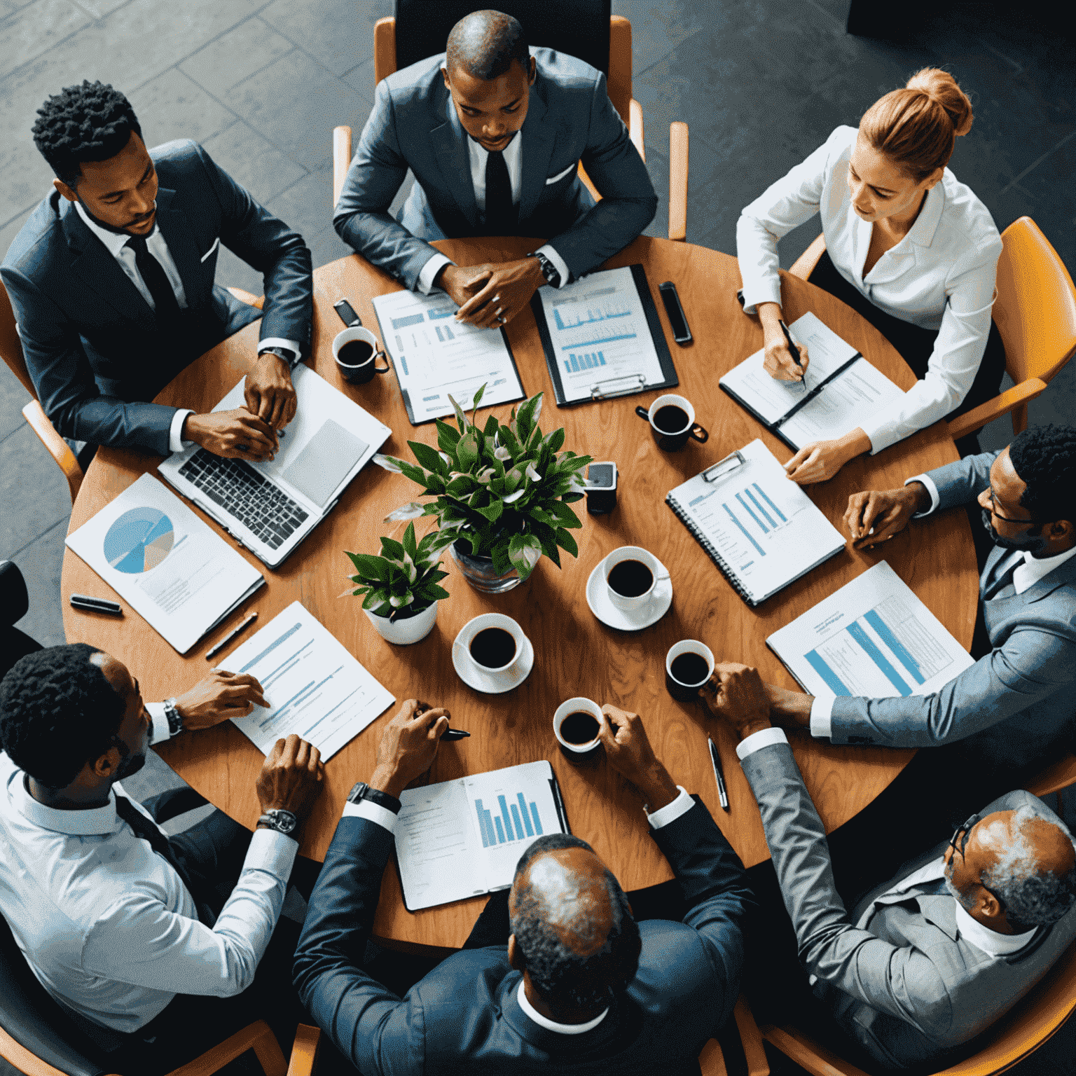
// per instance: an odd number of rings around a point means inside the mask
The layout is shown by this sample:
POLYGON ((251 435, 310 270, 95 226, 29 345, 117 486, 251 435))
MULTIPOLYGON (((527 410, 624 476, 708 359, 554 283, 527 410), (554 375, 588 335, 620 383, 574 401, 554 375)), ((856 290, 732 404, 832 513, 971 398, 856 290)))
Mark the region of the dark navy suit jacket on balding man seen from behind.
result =
POLYGON ((341 819, 296 950, 302 1003, 364 1076, 698 1072, 697 1054, 739 990, 744 868, 696 798, 653 833, 683 890, 683 922, 639 923, 639 969, 596 1028, 560 1035, 516 1000, 521 973, 505 946, 462 950, 400 1000, 363 971, 393 847, 387 830, 341 819))

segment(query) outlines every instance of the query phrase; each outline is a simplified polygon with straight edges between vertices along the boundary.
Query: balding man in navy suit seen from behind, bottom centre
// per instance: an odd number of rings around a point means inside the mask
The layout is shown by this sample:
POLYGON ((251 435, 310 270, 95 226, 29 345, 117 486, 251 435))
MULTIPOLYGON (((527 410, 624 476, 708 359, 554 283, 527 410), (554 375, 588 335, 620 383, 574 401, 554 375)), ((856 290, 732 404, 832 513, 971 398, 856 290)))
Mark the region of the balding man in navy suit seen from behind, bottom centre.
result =
POLYGON ((739 990, 744 868, 702 802, 654 758, 639 717, 604 713, 606 761, 648 805, 682 921, 637 922, 590 845, 548 835, 516 866, 499 936, 495 894, 464 950, 402 999, 378 982, 364 966, 366 942, 399 793, 429 768, 448 727, 444 710, 410 699, 385 727, 369 784, 349 797, 296 951, 300 997, 364 1076, 698 1073, 698 1052, 739 990))

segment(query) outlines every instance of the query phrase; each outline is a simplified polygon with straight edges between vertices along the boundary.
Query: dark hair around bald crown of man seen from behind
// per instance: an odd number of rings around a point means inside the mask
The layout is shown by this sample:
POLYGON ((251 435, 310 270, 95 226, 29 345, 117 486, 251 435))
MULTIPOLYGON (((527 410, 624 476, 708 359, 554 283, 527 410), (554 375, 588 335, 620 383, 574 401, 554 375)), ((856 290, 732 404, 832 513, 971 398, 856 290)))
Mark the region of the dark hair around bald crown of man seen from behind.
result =
MULTIPOLYGON (((594 1011, 627 989, 639 965, 642 943, 638 923, 632 917, 620 882, 612 872, 606 870, 612 926, 605 944, 589 957, 579 957, 565 945, 549 922, 547 902, 530 886, 520 883, 521 876, 537 855, 562 848, 593 851, 585 840, 570 834, 554 833, 539 837, 520 856, 515 866, 512 879, 515 914, 511 917, 511 930, 526 962, 530 982, 542 1000, 556 1005, 571 1005, 582 1011, 594 1011)), ((579 934, 586 934, 586 923, 577 922, 572 928, 579 934)))

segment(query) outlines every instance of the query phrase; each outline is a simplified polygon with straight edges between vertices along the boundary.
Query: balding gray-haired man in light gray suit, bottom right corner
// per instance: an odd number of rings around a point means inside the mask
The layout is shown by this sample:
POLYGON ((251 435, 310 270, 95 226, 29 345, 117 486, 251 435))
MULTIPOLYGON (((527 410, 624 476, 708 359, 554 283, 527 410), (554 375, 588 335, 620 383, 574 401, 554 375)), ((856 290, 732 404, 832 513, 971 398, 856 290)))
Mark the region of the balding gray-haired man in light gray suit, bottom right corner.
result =
MULTIPOLYGON (((758 671, 719 665, 702 694, 739 737, 737 754, 795 930, 795 948, 764 961, 765 993, 752 1002, 766 1008, 769 994, 790 987, 807 994, 802 973, 788 974, 798 952, 812 994, 801 996, 796 1022, 806 1017, 811 1033, 838 1052, 848 1056, 851 1039, 874 1063, 903 1068, 973 1051, 960 1048, 1076 938, 1076 848, 1064 823, 1030 793, 1010 792, 959 824, 948 845, 905 864, 849 916, 825 829, 784 733, 770 724, 758 671)), ((774 926, 780 905, 769 915, 774 926)), ((780 937, 777 930, 754 934, 764 946, 780 937)))

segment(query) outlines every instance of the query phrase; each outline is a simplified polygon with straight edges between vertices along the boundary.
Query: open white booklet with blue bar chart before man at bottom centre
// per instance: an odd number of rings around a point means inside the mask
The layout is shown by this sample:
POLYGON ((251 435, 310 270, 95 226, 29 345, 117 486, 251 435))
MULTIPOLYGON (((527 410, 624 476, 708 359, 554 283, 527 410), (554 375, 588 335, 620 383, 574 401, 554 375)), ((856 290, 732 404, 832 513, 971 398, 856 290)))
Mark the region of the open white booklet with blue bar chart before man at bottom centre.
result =
POLYGON ((396 858, 409 911, 508 889, 536 838, 568 832, 544 761, 406 789, 400 804, 396 858))

